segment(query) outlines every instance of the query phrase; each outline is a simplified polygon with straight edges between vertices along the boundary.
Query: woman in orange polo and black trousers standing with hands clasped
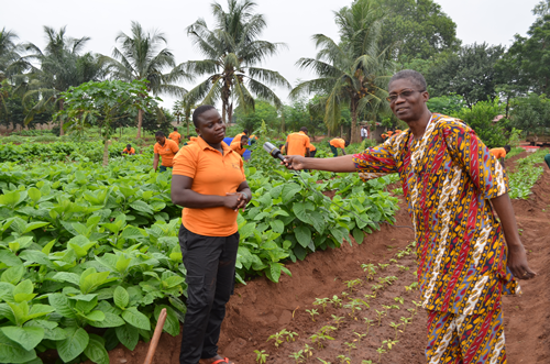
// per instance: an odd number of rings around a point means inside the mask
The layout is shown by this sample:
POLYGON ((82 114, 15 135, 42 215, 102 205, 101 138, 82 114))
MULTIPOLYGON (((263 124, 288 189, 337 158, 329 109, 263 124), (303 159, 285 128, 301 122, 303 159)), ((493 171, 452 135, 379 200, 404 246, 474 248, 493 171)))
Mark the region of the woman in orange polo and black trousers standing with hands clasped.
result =
POLYGON ((184 207, 179 246, 188 296, 179 363, 233 363, 217 343, 234 285, 238 210, 252 192, 241 156, 223 143, 226 124, 215 107, 195 109, 193 122, 199 137, 176 155, 172 177, 172 201, 184 207))

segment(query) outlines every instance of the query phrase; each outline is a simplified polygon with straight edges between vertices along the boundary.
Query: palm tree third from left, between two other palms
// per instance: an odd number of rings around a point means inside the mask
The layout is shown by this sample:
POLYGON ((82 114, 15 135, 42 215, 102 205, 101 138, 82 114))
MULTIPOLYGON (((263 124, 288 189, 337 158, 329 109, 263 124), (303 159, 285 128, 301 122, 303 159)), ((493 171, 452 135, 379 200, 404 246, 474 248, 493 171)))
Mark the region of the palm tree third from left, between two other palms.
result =
MULTIPOLYGON (((176 67, 174 54, 168 48, 161 48, 168 43, 164 33, 157 30, 146 33, 138 22, 132 22, 131 31, 130 35, 119 33, 116 42, 120 48, 114 47, 112 58, 106 57, 111 65, 112 77, 124 81, 146 79, 147 92, 184 96, 186 90, 175 82, 191 80, 193 77, 176 67), (163 73, 166 68, 169 71, 163 73)), ((141 137, 142 123, 143 110, 140 110, 136 137, 141 137)))

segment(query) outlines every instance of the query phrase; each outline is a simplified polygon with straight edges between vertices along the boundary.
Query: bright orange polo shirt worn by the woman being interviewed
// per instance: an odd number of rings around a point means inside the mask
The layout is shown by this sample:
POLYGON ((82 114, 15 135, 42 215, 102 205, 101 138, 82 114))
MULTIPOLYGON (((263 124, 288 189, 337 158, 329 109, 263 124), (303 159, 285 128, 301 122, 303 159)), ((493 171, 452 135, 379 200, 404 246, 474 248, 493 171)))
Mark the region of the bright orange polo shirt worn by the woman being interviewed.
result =
MULTIPOLYGON (((235 192, 246 180, 241 156, 221 143, 223 155, 208 145, 201 137, 174 158, 173 175, 193 178, 191 190, 201 195, 226 196, 235 192)), ((226 207, 207 209, 184 208, 184 227, 199 235, 229 236, 237 232, 238 212, 226 207)))

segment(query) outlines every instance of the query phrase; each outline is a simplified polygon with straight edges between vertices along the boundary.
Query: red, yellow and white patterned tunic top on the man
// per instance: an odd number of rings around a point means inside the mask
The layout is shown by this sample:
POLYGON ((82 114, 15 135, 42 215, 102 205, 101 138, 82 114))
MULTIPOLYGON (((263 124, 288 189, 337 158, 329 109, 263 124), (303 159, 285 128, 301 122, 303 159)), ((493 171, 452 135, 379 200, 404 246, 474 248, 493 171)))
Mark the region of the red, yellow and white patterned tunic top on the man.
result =
POLYGON ((407 130, 353 161, 363 180, 400 176, 424 308, 483 315, 501 307, 502 294, 519 293, 488 201, 508 191, 507 177, 471 128, 435 113, 420 141, 407 130))

